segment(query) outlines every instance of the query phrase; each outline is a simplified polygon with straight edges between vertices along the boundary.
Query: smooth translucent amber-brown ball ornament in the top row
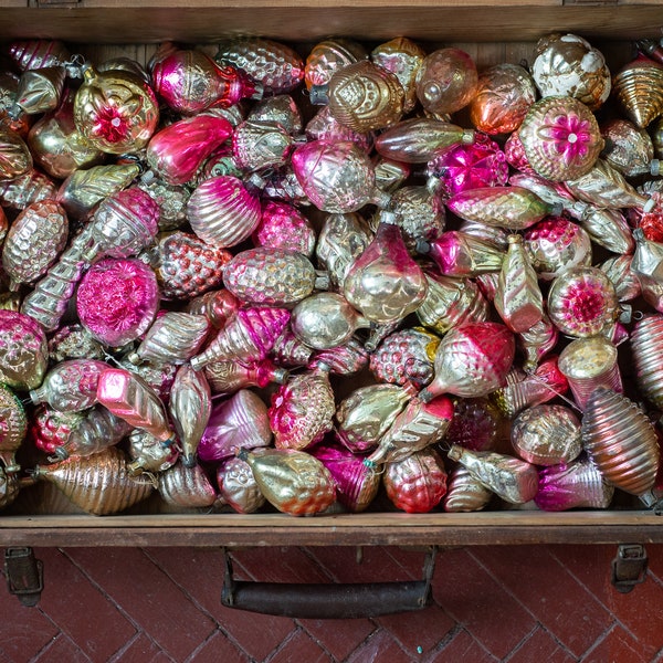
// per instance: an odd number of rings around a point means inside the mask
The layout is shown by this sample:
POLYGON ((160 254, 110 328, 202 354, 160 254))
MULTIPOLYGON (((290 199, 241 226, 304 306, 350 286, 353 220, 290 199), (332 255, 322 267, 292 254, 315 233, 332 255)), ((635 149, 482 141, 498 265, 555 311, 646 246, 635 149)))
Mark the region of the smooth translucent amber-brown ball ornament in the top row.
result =
POLYGON ((477 82, 470 54, 461 49, 439 49, 424 57, 417 72, 417 97, 429 113, 455 113, 472 101, 477 82))

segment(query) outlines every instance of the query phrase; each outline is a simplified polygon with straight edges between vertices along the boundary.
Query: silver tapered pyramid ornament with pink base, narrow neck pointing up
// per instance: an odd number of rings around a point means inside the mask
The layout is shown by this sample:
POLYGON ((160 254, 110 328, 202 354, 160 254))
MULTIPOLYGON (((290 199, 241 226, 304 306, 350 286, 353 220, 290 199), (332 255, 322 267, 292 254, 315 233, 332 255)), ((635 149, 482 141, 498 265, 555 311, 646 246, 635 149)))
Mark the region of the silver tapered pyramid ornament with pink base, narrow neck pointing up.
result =
POLYGON ((544 296, 519 234, 508 236, 493 305, 514 334, 527 332, 544 317, 544 296))

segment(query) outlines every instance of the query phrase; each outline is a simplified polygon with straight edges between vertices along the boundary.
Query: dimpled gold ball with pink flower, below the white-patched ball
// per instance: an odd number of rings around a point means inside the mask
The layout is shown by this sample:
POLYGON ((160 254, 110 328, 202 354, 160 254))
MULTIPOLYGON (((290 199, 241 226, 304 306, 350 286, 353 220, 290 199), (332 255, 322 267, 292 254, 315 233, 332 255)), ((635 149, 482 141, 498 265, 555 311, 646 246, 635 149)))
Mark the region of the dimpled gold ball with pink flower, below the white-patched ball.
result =
POLYGON ((551 181, 587 175, 604 145, 591 110, 566 96, 550 96, 533 104, 518 137, 528 164, 551 181))

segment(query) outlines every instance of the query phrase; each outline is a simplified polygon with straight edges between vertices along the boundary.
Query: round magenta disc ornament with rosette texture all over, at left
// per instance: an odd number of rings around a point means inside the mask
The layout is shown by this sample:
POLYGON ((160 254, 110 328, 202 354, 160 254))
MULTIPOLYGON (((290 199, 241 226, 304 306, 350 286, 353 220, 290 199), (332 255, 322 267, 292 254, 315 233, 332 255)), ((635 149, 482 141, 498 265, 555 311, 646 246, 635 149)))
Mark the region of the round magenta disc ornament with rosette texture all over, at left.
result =
POLYGON ((159 308, 159 287, 151 267, 137 259, 106 259, 85 274, 76 308, 94 338, 120 347, 145 334, 159 308))

